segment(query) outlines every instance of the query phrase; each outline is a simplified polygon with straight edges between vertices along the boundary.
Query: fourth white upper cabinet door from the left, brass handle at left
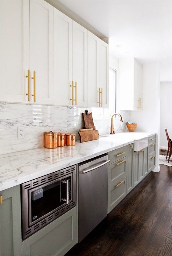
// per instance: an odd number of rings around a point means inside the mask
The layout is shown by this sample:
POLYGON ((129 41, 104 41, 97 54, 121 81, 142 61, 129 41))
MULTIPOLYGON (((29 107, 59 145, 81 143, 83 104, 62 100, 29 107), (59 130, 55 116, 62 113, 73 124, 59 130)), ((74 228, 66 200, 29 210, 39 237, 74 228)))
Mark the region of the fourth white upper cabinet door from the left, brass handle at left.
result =
MULTIPOLYGON (((73 21, 73 81, 77 82, 74 88, 74 104, 80 107, 87 106, 87 29, 73 21)), ((72 89, 71 89, 72 90, 72 89)))

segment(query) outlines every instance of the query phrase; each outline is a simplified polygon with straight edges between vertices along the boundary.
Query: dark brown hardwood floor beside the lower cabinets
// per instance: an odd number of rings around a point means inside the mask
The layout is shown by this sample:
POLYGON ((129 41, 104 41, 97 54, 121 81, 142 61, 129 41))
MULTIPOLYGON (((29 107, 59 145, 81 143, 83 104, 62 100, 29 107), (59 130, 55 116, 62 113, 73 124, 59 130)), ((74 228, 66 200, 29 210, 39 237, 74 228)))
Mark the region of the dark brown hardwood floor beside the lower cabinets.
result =
POLYGON ((66 255, 172 255, 171 177, 160 165, 66 255))

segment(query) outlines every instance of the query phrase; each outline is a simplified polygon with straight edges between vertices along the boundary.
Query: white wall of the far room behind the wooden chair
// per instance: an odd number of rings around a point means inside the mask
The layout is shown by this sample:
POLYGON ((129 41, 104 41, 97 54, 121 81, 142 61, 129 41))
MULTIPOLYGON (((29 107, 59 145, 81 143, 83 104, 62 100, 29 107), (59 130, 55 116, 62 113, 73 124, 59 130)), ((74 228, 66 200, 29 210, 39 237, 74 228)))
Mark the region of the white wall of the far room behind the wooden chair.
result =
POLYGON ((160 148, 167 149, 168 142, 165 134, 172 138, 172 82, 160 83, 160 148))

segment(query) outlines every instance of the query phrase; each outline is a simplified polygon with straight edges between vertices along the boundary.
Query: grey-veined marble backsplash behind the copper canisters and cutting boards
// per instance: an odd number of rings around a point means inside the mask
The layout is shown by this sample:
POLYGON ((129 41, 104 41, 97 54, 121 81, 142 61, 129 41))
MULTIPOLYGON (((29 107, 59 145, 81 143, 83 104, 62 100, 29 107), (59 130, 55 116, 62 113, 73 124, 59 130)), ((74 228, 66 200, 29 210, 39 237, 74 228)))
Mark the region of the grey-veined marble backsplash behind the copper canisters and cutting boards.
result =
MULTIPOLYGON (((44 145, 45 131, 73 132, 79 139, 78 131, 83 127, 82 112, 92 112, 99 134, 109 133, 110 115, 104 117, 103 109, 77 108, 34 104, 0 103, 0 154, 17 152, 44 145), (17 138, 17 127, 23 127, 24 137, 17 138)), ((116 132, 126 130, 130 111, 121 111, 123 123, 114 119, 116 132)))

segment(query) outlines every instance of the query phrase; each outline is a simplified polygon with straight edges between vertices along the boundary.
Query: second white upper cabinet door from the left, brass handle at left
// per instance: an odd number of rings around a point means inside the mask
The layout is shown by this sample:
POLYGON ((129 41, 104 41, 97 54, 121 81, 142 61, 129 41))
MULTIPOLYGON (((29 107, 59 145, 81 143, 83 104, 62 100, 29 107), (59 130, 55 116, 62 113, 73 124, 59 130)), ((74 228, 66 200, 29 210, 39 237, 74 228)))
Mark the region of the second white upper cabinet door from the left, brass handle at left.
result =
MULTIPOLYGON (((35 71, 35 103, 54 104, 54 7, 30 1, 30 72, 35 71)), ((31 79, 34 94, 34 79, 31 79)), ((31 97, 32 102, 34 97, 31 97)))

